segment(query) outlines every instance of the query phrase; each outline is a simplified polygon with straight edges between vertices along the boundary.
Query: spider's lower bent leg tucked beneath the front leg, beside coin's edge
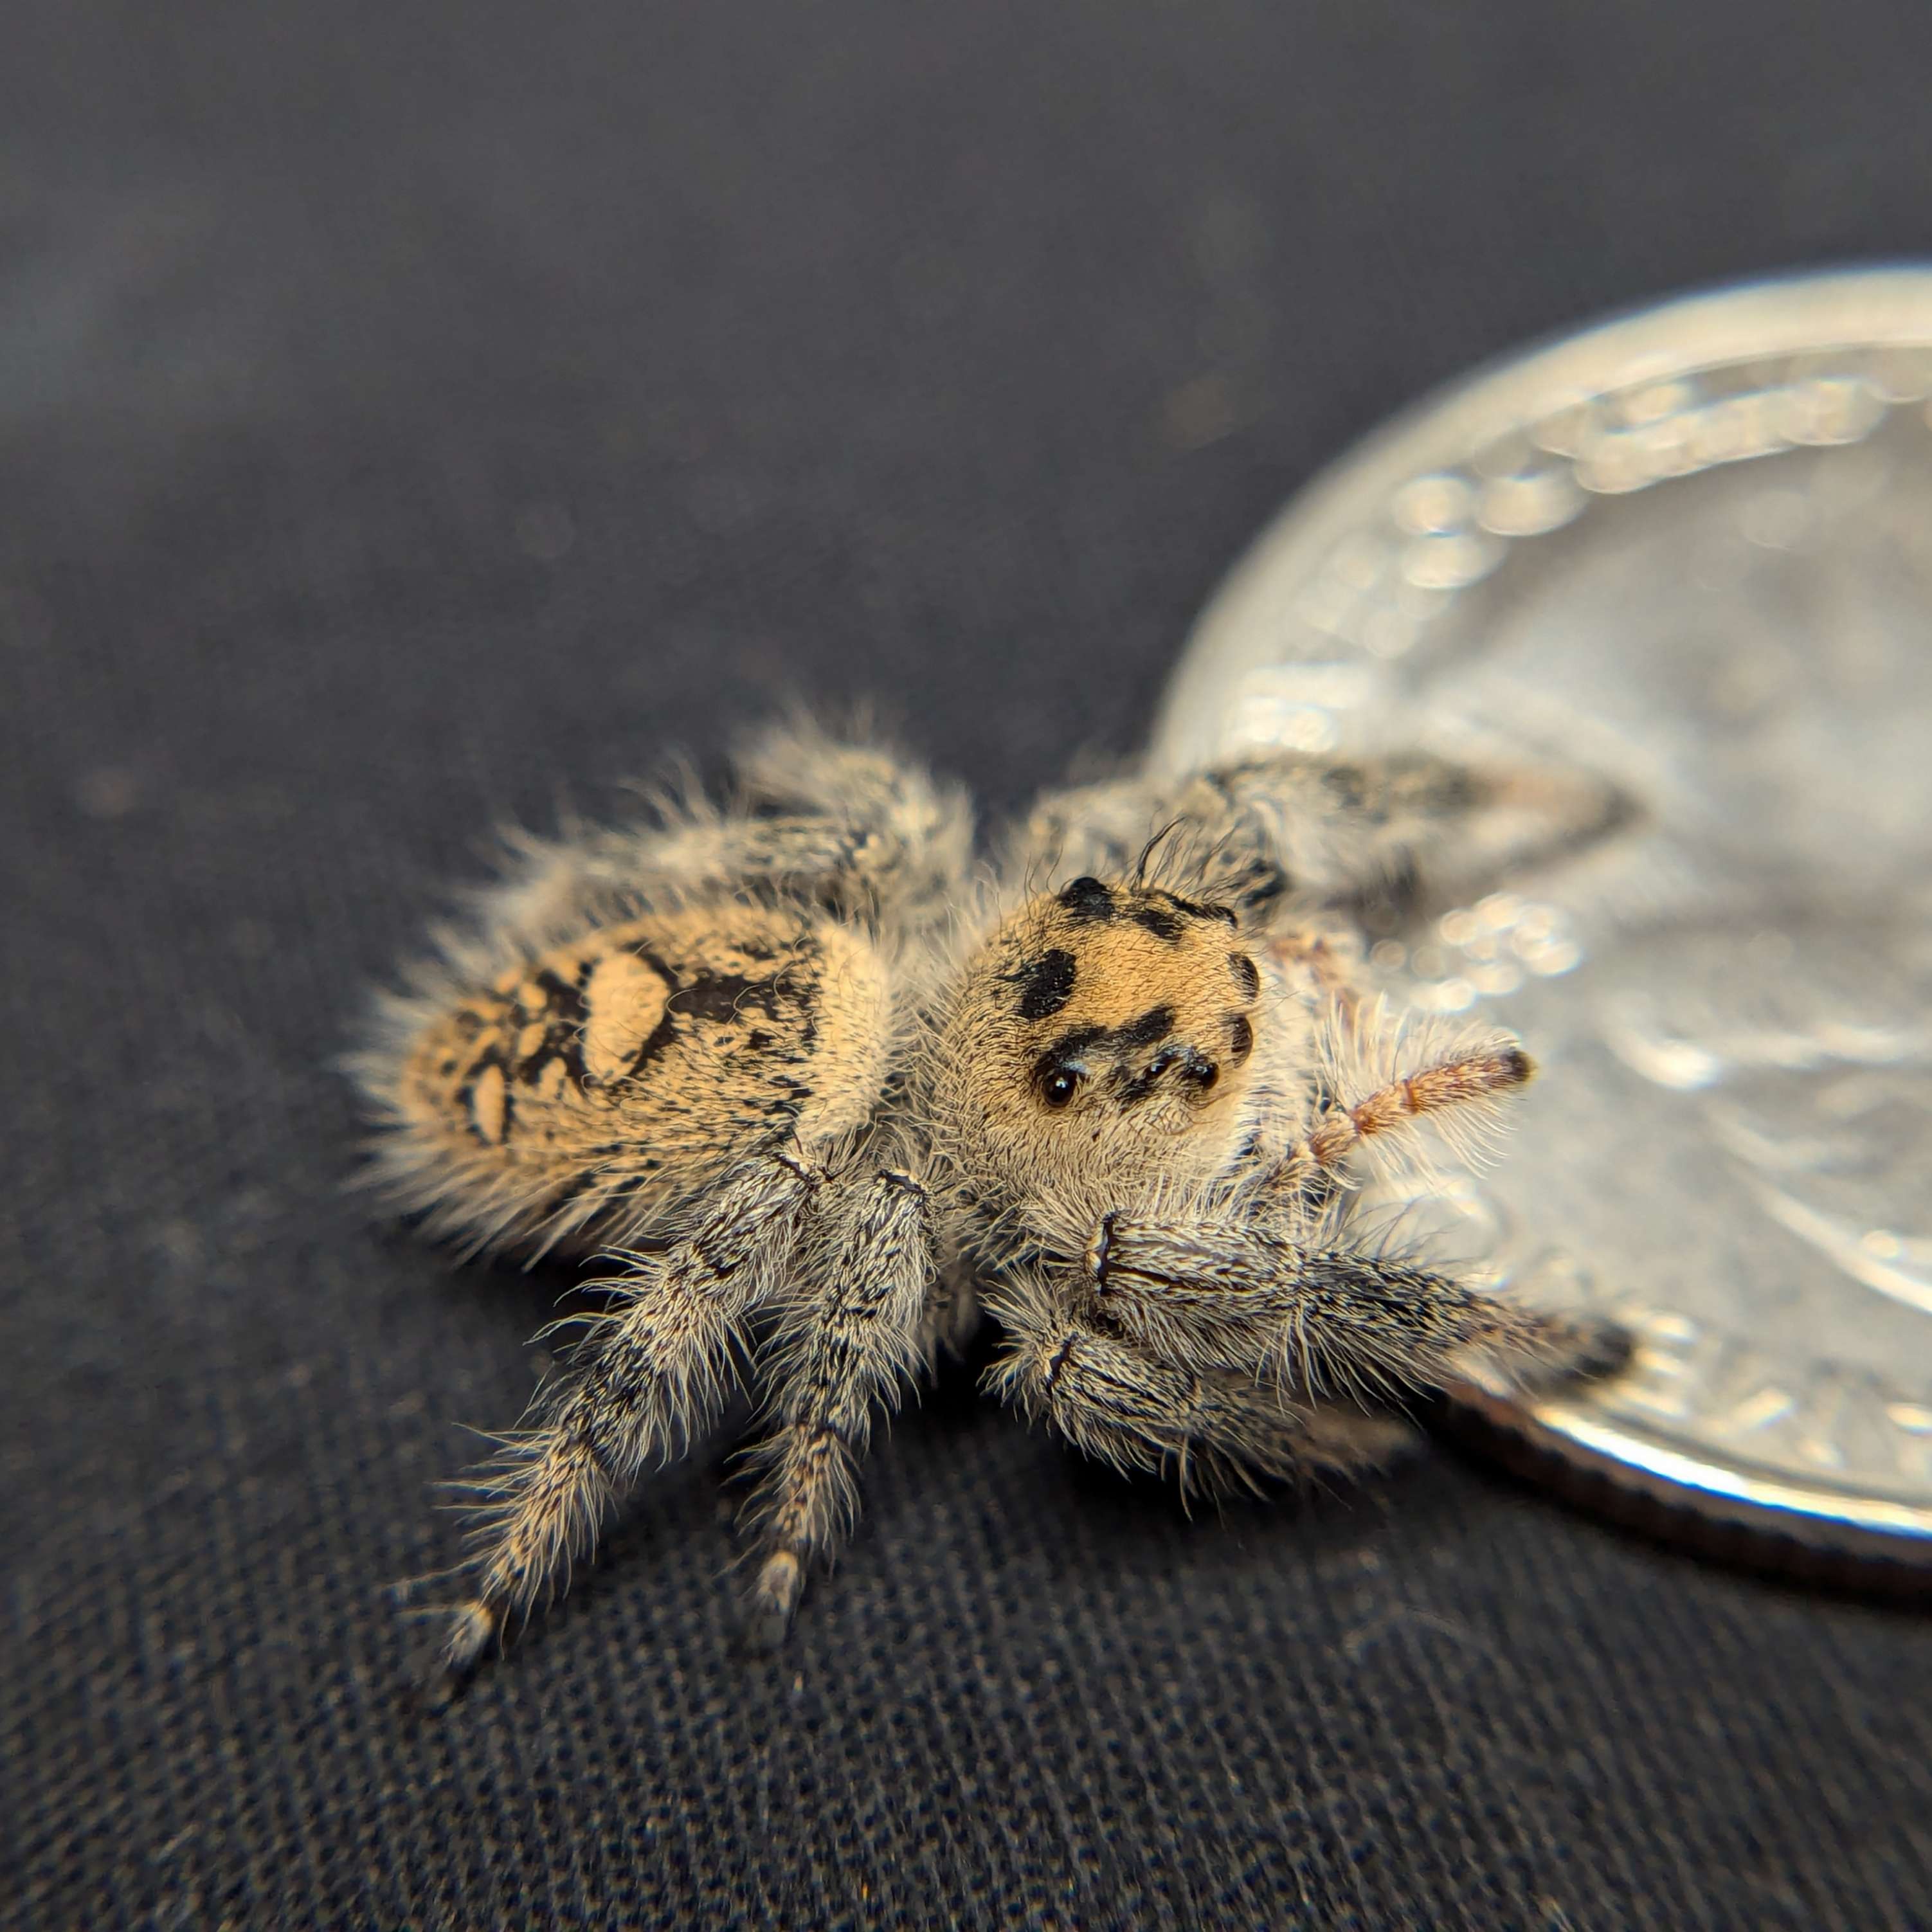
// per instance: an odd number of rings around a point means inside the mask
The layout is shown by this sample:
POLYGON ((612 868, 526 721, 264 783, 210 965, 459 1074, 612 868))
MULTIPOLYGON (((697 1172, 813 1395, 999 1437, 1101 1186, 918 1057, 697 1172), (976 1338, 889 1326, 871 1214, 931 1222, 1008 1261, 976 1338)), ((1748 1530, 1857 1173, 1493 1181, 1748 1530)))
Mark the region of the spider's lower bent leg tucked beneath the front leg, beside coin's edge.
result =
POLYGON ((989 1308, 1009 1335, 987 1372, 1001 1401, 1122 1472, 1173 1472, 1190 1495, 1368 1468, 1412 1435, 1393 1416, 1296 1403, 1250 1374, 1163 1362, 1047 1275, 1007 1279, 989 1308))

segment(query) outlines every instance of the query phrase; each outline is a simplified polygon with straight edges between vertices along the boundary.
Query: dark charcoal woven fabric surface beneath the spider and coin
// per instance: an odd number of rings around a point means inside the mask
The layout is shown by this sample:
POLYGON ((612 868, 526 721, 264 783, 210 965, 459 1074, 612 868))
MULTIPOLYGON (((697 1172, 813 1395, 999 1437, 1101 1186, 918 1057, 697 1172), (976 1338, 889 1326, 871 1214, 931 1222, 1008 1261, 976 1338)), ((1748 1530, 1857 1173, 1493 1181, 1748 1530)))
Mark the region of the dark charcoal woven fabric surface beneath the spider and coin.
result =
POLYGON ((784 690, 1130 750, 1323 460, 1932 251, 1922 0, 14 0, 10 1926, 1932 1922, 1932 1633, 1435 1451, 1188 1522, 956 1374, 777 1662, 719 1457, 452 1712, 384 1596, 558 1283, 340 1196, 489 821, 784 690))

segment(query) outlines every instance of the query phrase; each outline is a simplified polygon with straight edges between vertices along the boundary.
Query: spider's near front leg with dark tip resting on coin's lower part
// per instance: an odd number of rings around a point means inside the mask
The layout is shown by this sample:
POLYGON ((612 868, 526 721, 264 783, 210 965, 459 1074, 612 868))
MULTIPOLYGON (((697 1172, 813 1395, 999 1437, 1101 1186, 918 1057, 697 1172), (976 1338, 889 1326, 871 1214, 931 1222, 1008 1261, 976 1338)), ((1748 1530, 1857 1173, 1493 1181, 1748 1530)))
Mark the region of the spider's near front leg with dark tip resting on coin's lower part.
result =
POLYGON ((1107 1215, 1084 1267, 1095 1306, 1163 1362, 1246 1370, 1320 1395, 1437 1387, 1484 1370, 1519 1387, 1621 1368, 1611 1321, 1553 1316, 1366 1248, 1240 1215, 1107 1215))

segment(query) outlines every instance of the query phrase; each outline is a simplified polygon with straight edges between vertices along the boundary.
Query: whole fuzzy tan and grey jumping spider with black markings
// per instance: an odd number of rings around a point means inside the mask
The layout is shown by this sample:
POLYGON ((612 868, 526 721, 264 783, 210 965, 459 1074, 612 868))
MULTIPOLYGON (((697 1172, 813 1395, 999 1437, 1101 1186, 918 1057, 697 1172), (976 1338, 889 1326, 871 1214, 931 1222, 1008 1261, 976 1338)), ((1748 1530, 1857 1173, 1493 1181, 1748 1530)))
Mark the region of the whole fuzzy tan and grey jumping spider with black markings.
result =
POLYGON ((856 1515, 875 1412, 983 1306, 991 1389, 1192 1490, 1385 1461, 1405 1391, 1602 1372, 1619 1337, 1362 1225, 1350 1171, 1530 1078, 1360 987, 1364 904, 1615 800, 1408 755, 1258 755, 1045 798, 976 867, 966 800, 810 726, 728 804, 529 846, 359 1078, 437 1235, 611 1262, 568 1370, 481 1472, 458 1681, 645 1464, 763 1399, 750 1625, 856 1515))

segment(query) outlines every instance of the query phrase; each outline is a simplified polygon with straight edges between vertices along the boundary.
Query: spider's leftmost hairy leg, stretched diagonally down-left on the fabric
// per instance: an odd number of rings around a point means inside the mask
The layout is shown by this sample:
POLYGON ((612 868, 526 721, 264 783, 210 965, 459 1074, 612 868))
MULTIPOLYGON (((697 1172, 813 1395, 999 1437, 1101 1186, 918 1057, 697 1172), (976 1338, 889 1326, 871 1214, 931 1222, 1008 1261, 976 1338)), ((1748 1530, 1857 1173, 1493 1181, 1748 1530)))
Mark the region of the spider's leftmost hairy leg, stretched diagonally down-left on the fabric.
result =
POLYGON ((775 1289, 819 1177, 784 1155, 746 1161, 661 1254, 624 1254, 564 1376, 487 1464, 473 1596, 456 1605, 439 1667, 466 1677, 504 1621, 556 1588, 645 1463, 670 1459, 717 1414, 752 1310, 775 1289))

